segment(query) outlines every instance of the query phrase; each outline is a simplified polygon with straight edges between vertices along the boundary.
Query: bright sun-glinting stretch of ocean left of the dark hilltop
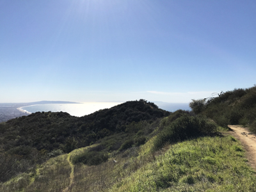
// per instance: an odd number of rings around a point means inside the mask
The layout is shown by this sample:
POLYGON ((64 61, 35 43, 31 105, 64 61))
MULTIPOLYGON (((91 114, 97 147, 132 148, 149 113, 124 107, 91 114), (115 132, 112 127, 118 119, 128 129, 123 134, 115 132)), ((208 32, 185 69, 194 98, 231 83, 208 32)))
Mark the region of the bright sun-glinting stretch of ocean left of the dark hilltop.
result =
POLYGON ((84 116, 99 111, 100 109, 108 109, 121 104, 122 102, 84 102, 81 104, 36 104, 33 106, 24 106, 19 108, 24 112, 67 112, 72 116, 84 116))

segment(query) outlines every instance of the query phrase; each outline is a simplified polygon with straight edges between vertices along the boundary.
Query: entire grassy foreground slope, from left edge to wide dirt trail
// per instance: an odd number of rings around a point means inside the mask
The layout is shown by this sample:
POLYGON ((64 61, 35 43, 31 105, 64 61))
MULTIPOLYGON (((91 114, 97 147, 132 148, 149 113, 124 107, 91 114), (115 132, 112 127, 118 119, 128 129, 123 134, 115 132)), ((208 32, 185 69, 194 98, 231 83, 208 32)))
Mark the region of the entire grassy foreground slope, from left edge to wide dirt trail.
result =
POLYGON ((0 184, 0 191, 256 191, 256 177, 244 151, 230 136, 205 137, 164 147, 152 153, 152 141, 98 166, 74 165, 68 156, 49 159, 36 170, 0 184), (69 188, 67 188, 69 186, 69 188))

